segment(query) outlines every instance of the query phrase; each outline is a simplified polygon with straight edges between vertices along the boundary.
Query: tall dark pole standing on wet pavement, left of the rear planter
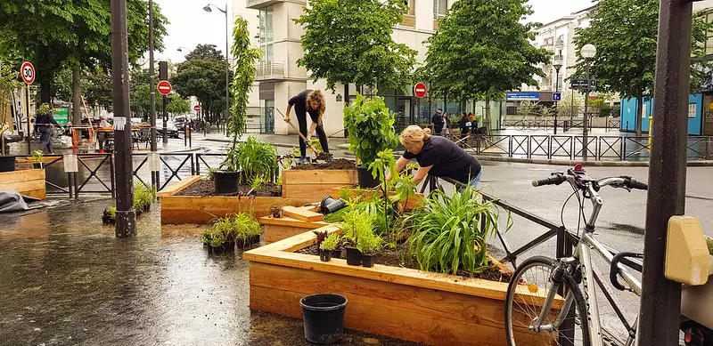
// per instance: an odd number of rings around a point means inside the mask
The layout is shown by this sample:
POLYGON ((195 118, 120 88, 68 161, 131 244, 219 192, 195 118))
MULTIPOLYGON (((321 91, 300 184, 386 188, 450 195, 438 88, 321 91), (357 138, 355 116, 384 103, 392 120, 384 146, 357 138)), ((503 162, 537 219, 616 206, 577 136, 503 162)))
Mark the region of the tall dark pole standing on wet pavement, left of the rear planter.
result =
POLYGON ((136 235, 131 117, 128 99, 127 0, 111 0, 111 78, 113 80, 114 142, 116 150, 117 237, 136 235), (124 126, 120 126, 120 123, 124 126))

